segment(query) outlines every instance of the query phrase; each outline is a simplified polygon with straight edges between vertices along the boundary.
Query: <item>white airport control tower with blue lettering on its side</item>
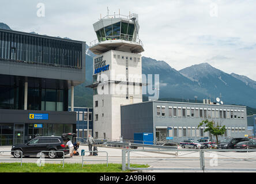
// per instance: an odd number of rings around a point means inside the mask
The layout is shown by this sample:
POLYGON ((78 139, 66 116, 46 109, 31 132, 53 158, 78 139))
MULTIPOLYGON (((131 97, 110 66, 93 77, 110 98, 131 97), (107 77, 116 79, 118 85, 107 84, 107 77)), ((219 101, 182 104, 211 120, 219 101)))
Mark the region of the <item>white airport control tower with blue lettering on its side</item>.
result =
POLYGON ((93 28, 97 40, 93 58, 93 135, 120 139, 121 105, 142 102, 142 42, 138 39, 138 15, 106 16, 93 28))

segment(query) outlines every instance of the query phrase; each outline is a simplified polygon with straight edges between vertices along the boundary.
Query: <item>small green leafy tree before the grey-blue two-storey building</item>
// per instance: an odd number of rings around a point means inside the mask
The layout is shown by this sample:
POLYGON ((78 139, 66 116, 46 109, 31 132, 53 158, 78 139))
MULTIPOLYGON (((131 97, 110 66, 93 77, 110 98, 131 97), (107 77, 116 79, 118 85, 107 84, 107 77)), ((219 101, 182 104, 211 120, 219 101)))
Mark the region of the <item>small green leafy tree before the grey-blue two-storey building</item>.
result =
POLYGON ((204 132, 210 132, 212 135, 216 136, 216 141, 218 144, 219 143, 218 136, 223 135, 226 131, 225 125, 221 126, 219 125, 218 122, 216 124, 216 122, 214 122, 213 120, 212 121, 203 120, 202 122, 199 123, 197 129, 202 125, 206 126, 206 129, 204 130, 204 132))

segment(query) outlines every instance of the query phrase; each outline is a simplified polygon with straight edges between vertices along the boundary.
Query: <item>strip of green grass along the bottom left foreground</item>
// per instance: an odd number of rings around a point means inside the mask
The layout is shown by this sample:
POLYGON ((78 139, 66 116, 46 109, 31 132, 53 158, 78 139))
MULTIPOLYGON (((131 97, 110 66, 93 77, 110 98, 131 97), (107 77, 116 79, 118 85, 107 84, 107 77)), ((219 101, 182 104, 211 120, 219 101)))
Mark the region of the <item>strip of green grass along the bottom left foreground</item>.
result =
MULTIPOLYGON (((0 173, 123 173, 122 164, 45 164, 44 167, 37 166, 36 163, 0 163, 0 173)), ((147 165, 131 164, 131 167, 149 167, 147 165)))

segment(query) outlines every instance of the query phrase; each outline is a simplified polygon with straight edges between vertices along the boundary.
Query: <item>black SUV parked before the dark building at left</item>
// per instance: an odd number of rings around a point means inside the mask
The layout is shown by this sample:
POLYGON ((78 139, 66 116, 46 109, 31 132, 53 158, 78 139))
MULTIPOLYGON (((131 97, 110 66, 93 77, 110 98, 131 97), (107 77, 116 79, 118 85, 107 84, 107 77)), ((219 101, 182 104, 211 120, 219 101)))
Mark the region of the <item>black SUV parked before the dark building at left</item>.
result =
MULTIPOLYGON (((51 151, 43 152, 43 154, 48 155, 51 159, 57 158, 58 156, 63 156, 63 151, 65 155, 69 154, 69 149, 65 147, 66 143, 62 137, 58 136, 43 136, 36 137, 32 139, 27 144, 17 144, 12 146, 12 151, 22 151, 23 156, 37 155, 41 151, 51 151)), ((14 158, 21 158, 21 152, 11 152, 14 158)))

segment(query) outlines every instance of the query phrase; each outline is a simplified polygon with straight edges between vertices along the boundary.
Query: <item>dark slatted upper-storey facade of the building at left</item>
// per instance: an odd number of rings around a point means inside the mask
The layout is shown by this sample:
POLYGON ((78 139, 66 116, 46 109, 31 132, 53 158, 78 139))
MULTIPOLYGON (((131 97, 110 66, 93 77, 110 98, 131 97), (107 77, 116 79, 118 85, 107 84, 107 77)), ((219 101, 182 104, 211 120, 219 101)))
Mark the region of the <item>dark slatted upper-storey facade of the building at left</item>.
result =
POLYGON ((82 43, 0 30, 0 59, 82 67, 82 43))

